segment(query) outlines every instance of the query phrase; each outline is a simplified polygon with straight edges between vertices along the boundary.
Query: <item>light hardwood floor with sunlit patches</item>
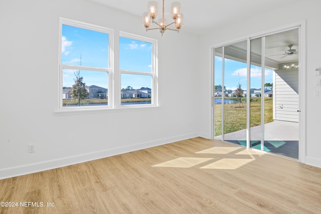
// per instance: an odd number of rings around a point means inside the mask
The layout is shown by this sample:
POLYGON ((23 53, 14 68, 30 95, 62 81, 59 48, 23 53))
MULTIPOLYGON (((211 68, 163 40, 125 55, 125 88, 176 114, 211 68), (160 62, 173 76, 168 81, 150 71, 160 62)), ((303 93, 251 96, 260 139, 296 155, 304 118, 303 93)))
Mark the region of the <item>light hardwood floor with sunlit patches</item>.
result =
POLYGON ((19 204, 0 213, 321 213, 321 169, 193 138, 3 179, 1 201, 19 204))

